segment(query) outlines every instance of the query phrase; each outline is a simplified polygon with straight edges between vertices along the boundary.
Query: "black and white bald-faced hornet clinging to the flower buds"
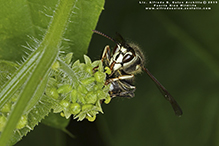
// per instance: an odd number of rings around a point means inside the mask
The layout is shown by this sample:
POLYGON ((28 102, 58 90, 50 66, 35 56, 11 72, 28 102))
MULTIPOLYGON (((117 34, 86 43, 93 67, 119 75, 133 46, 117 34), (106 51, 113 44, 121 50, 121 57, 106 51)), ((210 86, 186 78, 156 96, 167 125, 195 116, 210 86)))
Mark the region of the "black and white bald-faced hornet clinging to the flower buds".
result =
POLYGON ((101 57, 101 61, 105 63, 106 67, 111 70, 107 74, 106 85, 110 84, 110 96, 116 97, 134 97, 135 86, 134 74, 145 71, 148 76, 154 81, 162 95, 170 102, 172 108, 177 116, 182 115, 182 110, 170 95, 166 88, 145 68, 144 55, 138 46, 127 43, 123 37, 117 34, 118 40, 115 40, 99 31, 93 30, 94 33, 102 35, 116 43, 113 52, 110 52, 110 47, 107 45, 101 57))

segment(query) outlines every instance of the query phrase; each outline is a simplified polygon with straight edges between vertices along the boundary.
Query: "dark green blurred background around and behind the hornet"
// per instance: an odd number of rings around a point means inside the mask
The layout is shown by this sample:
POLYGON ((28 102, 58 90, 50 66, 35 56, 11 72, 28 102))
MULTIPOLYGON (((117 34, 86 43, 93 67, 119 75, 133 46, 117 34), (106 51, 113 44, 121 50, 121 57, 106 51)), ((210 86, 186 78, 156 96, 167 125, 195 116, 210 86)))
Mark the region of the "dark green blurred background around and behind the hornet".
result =
MULTIPOLYGON (((174 115, 142 73, 136 77, 134 98, 115 98, 103 105, 104 114, 93 123, 71 120, 68 130, 75 139, 41 124, 17 145, 33 144, 36 135, 37 145, 219 145, 219 4, 209 11, 148 11, 144 7, 138 1, 106 1, 96 29, 111 37, 119 32, 138 44, 147 68, 177 100, 183 116, 174 115)), ((100 59, 107 44, 115 46, 94 34, 88 55, 100 59)))

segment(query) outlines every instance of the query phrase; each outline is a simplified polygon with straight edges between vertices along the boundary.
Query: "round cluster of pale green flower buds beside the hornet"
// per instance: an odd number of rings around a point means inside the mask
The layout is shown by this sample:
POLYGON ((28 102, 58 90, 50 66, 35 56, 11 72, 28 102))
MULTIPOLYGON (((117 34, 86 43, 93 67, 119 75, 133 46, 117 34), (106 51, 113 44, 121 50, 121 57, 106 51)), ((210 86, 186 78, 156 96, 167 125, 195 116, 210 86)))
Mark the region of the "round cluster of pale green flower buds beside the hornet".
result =
POLYGON ((56 102, 54 113, 94 121, 96 114, 103 113, 101 102, 107 104, 111 100, 109 85, 104 85, 106 72, 100 60, 91 62, 86 55, 85 63, 78 60, 71 64, 72 55, 69 53, 53 64, 45 93, 56 102))

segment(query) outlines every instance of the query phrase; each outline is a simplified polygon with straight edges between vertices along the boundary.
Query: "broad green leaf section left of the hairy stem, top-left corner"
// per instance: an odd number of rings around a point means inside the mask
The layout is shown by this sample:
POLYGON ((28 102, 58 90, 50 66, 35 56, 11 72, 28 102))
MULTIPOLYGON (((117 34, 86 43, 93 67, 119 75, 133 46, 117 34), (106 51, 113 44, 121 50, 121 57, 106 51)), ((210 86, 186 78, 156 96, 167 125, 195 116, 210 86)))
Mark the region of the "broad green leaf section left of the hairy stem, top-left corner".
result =
POLYGON ((22 47, 28 42, 32 47, 36 39, 42 40, 55 10, 57 0, 0 0, 0 58, 20 61, 24 52, 22 47), (33 41, 28 36, 34 37, 33 41))

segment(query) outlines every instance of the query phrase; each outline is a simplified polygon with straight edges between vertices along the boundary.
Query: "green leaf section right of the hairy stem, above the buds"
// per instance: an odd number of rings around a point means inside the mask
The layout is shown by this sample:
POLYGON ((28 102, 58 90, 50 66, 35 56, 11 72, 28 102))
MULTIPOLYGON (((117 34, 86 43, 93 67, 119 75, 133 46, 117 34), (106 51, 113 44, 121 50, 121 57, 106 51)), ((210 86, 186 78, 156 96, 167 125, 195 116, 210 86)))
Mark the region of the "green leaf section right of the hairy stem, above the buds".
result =
MULTIPOLYGON (((79 1, 73 10, 69 21, 68 31, 65 33, 63 46, 74 53, 74 58, 83 60, 83 55, 91 40, 92 30, 95 29, 100 12, 103 10, 104 0, 79 1), (75 29, 76 28, 76 29, 75 29)), ((66 51, 66 50, 65 50, 66 51)))

